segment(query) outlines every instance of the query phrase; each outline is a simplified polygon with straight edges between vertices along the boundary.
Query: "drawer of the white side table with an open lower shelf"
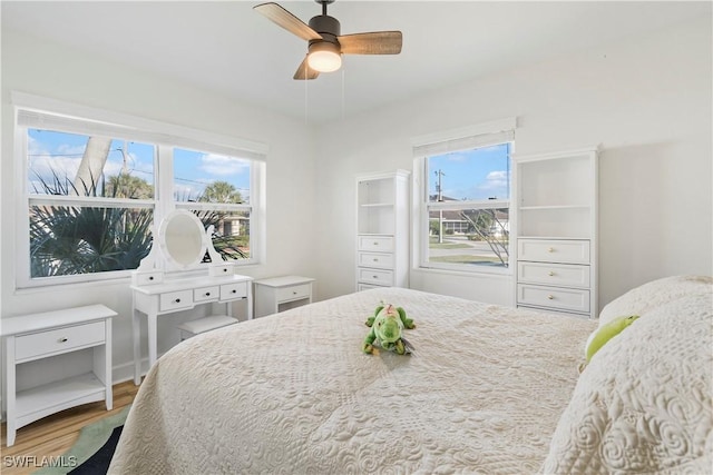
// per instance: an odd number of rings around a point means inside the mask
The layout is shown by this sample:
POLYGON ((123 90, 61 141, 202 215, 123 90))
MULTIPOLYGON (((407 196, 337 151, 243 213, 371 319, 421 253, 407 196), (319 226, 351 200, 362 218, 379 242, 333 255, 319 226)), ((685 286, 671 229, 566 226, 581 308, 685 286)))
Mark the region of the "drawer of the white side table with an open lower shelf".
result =
POLYGON ((104 320, 18 336, 14 339, 14 358, 18 362, 41 358, 45 355, 101 345, 105 339, 104 320))

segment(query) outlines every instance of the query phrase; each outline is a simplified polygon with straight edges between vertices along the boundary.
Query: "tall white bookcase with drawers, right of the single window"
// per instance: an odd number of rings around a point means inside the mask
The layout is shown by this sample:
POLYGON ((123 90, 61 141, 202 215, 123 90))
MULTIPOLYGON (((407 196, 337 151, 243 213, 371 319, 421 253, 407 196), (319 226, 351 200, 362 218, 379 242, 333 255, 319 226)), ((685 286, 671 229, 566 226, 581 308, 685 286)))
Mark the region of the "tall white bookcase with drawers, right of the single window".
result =
POLYGON ((596 318, 597 147, 512 160, 517 306, 596 318))

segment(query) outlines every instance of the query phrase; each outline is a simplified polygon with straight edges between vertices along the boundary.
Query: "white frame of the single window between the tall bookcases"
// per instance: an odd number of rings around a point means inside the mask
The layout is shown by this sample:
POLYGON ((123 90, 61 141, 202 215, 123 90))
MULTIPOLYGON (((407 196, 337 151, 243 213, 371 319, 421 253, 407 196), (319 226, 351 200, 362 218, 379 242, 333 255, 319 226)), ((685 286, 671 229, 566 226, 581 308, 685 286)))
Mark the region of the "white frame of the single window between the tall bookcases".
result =
MULTIPOLYGON (((512 202, 510 196, 507 199, 495 200, 459 200, 459 201, 429 201, 429 169, 428 158, 443 155, 450 151, 472 150, 500 144, 510 144, 510 164, 512 169, 512 155, 515 154, 515 129, 517 118, 507 118, 492 122, 469 126, 437 132, 412 139, 413 146, 413 268, 419 270, 445 271, 448 274, 477 275, 495 274, 511 275, 512 266, 508 259, 507 266, 480 266, 452 263, 436 263, 429 259, 430 211, 439 209, 468 210, 468 209, 497 209, 508 208, 508 221, 512 222, 512 202)), ((510 180, 510 177, 508 177, 510 180)), ((511 182, 511 180, 510 180, 511 182)), ((511 232, 510 228, 510 232, 511 232)), ((512 256, 514 243, 508 239, 508 256, 512 256)))

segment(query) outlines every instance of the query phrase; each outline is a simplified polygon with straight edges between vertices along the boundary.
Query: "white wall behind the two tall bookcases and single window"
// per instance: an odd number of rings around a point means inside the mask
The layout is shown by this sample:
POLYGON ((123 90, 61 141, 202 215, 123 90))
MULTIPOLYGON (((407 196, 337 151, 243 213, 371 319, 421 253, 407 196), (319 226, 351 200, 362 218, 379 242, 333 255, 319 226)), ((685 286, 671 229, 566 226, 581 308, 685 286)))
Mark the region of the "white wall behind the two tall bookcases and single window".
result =
MULTIPOLYGON (((712 275, 711 83, 707 18, 325 127, 316 165, 328 197, 319 201, 322 296, 354 287, 354 175, 412 169, 412 137, 511 116, 519 118, 518 154, 603 148, 600 306, 656 277, 712 275)), ((414 270, 411 286, 511 301, 511 278, 414 270)))

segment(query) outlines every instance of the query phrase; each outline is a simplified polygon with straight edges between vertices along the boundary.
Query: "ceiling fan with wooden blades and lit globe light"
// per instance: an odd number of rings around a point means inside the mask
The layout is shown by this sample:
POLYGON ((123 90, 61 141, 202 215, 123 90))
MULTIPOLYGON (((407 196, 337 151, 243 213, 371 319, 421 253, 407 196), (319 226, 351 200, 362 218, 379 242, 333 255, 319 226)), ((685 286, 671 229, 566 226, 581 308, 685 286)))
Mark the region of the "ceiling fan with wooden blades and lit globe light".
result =
POLYGON ((253 7, 258 13, 285 30, 309 41, 307 55, 294 73, 294 79, 315 79, 320 72, 336 71, 342 66, 342 55, 398 55, 401 52, 401 31, 373 31, 340 34, 340 23, 326 14, 326 6, 334 0, 314 0, 322 4, 322 14, 307 26, 277 3, 253 7))

